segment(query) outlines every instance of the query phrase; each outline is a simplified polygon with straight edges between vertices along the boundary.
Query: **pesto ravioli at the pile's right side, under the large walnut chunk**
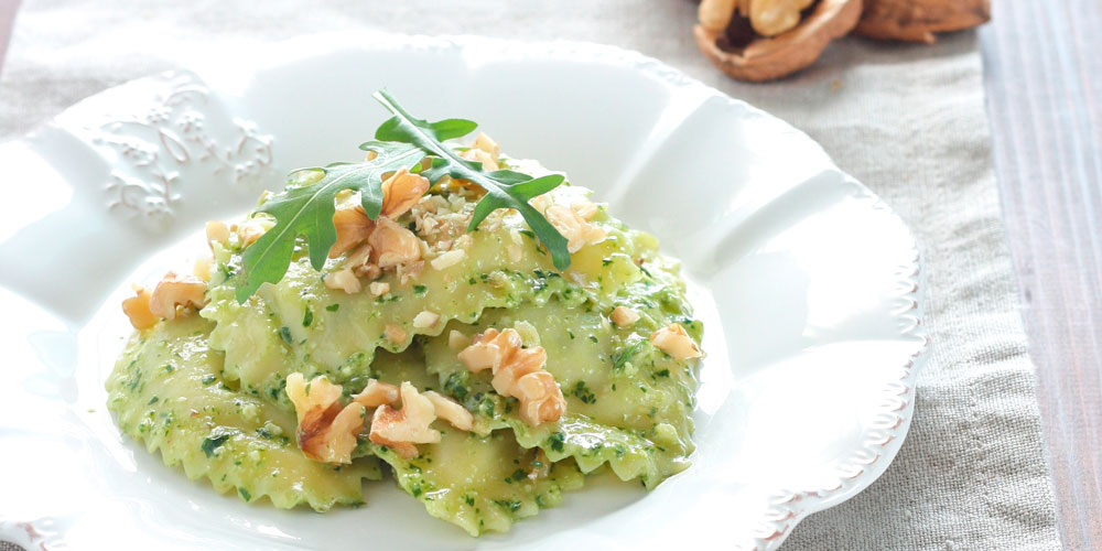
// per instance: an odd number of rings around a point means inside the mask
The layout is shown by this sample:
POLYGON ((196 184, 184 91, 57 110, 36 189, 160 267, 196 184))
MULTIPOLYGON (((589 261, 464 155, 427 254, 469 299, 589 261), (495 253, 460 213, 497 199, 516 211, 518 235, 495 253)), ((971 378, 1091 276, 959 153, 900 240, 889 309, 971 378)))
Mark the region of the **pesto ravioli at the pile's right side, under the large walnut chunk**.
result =
MULTIPOLYGON (((650 314, 668 315, 660 309, 650 314)), ((453 322, 449 329, 473 334, 517 324, 533 328, 548 350, 547 369, 562 387, 569 412, 558 423, 530 426, 516 400, 494 392, 489 374, 469 372, 442 337, 425 345, 425 366, 485 426, 512 429, 521 445, 538 446, 552 461, 572 457, 584 472, 607 462, 622 479, 638 477, 647 487, 688 467, 696 374, 655 348, 642 335, 649 334, 645 322, 616 328, 592 305, 552 300, 487 311, 477 325, 453 322)))

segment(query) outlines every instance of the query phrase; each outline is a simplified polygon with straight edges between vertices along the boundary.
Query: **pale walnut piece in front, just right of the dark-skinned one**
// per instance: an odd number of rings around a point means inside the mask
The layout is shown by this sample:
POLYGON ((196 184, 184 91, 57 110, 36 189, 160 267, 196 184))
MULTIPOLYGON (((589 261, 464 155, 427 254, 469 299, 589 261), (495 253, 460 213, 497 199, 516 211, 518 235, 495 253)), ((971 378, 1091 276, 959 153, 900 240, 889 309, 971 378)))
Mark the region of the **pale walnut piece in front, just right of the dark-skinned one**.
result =
POLYGON ((400 395, 402 409, 396 410, 385 403, 375 410, 368 437, 409 460, 418 456, 414 444, 440 442, 440 431, 429 426, 436 419, 431 400, 418 393, 409 382, 402 382, 400 395))

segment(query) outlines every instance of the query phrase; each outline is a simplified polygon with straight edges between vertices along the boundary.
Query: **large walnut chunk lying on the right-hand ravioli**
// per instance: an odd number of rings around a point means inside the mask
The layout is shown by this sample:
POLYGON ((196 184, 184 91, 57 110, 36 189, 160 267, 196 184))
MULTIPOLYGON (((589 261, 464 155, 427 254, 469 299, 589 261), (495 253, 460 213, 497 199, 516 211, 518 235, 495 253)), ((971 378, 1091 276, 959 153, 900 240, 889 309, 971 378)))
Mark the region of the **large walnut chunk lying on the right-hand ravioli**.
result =
POLYGON ((530 425, 557 421, 566 411, 566 400, 554 377, 543 369, 547 350, 542 346, 522 347, 516 329, 495 328, 475 336, 460 352, 460 360, 474 372, 490 369, 494 390, 520 401, 520 415, 530 425))

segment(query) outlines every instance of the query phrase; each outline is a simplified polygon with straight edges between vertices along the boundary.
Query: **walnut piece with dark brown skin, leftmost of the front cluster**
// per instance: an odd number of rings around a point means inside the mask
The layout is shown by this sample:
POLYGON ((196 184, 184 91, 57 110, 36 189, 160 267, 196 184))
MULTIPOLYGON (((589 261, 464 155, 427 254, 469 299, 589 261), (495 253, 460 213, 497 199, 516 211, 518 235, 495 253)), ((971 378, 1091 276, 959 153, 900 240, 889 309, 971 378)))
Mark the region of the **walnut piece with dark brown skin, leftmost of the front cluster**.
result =
POLYGON ((287 396, 299 418, 295 435, 299 449, 314 461, 352 463, 356 437, 364 430, 364 404, 352 402, 341 407, 341 385, 317 376, 306 383, 305 377, 293 372, 287 377, 287 396))

